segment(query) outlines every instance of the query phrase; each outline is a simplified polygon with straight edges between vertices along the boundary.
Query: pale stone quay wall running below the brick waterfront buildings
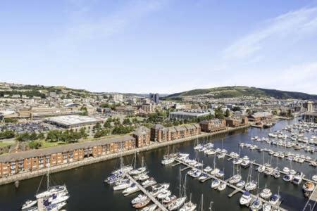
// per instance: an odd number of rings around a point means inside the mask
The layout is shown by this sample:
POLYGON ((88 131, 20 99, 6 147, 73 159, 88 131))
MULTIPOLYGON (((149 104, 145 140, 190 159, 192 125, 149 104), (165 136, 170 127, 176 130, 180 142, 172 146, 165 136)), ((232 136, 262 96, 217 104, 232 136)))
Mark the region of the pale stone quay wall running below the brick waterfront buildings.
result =
MULTIPOLYGON (((247 129, 249 127, 250 127, 249 124, 241 126, 241 127, 234 127, 234 128, 228 127, 227 129, 220 131, 220 132, 212 132, 212 133, 201 132, 201 134, 199 134, 197 136, 189 136, 189 137, 186 137, 184 139, 177 139, 177 140, 166 141, 166 142, 161 142, 161 143, 158 143, 158 142, 151 143, 149 146, 144 146, 142 148, 134 148, 132 150, 127 150, 127 151, 123 151, 123 152, 119 152, 119 153, 101 155, 101 156, 95 157, 95 158, 90 157, 90 158, 85 158, 84 160, 80 160, 80 161, 75 161, 75 162, 70 162, 70 163, 66 163, 66 164, 53 166, 53 167, 49 168, 49 172, 61 172, 64 170, 70 170, 70 169, 74 169, 77 167, 82 167, 85 165, 93 164, 96 162, 101 162, 104 160, 111 160, 113 158, 120 158, 121 156, 125 156, 125 155, 133 155, 133 154, 139 153, 139 152, 151 151, 155 148, 161 148, 161 147, 173 145, 176 143, 191 141, 191 140, 201 138, 201 137, 212 136, 212 135, 216 135, 216 134, 227 134, 228 132, 235 132, 235 131, 238 131, 240 129, 247 129)), ((0 178, 0 185, 9 184, 9 183, 13 183, 15 181, 21 181, 24 179, 30 179, 33 177, 39 177, 39 176, 42 176, 46 173, 47 173, 47 169, 41 169, 41 170, 34 170, 32 172, 21 172, 18 174, 13 174, 13 175, 7 176, 7 177, 1 177, 0 178)))

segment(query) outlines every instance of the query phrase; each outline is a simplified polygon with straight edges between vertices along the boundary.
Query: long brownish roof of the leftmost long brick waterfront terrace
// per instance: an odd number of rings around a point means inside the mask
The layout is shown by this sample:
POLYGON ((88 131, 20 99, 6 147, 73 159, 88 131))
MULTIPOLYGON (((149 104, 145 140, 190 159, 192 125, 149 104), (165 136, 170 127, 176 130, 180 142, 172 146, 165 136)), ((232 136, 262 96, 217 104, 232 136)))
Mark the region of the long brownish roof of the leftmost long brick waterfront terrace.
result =
POLYGON ((129 141, 135 140, 132 136, 120 136, 111 139, 101 139, 97 141, 86 141, 83 143, 71 143, 63 146, 54 146, 50 148, 42 148, 37 150, 30 150, 30 151, 22 151, 18 153, 10 153, 7 155, 0 155, 0 162, 10 162, 13 160, 21 160, 24 158, 32 158, 37 156, 43 155, 51 155, 54 153, 63 153, 68 151, 74 151, 80 148, 92 148, 94 146, 101 146, 107 143, 114 143, 118 141, 129 141))

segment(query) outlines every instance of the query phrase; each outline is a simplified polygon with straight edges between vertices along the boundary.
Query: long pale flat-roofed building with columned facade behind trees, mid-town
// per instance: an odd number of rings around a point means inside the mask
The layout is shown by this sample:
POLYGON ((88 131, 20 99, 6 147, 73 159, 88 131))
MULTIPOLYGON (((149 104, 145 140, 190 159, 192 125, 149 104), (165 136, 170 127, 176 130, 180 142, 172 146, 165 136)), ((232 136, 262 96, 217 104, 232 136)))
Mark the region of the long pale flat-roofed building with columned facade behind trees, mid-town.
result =
POLYGON ((209 110, 175 111, 169 114, 170 120, 197 120, 199 117, 211 115, 209 110))

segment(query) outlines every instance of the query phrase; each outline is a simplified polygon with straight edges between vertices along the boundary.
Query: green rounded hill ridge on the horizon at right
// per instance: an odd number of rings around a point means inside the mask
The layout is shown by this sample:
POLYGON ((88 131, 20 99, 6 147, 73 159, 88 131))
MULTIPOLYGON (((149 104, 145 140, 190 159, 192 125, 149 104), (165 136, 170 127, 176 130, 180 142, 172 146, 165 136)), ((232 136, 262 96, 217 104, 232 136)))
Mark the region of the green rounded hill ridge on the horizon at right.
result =
POLYGON ((302 100, 317 100, 317 95, 306 94, 296 91, 281 91, 277 89, 263 89, 256 87, 216 87, 211 89, 192 89, 175 94, 170 94, 166 98, 181 98, 182 96, 204 95, 213 98, 232 98, 240 96, 274 97, 278 99, 295 98, 302 100))

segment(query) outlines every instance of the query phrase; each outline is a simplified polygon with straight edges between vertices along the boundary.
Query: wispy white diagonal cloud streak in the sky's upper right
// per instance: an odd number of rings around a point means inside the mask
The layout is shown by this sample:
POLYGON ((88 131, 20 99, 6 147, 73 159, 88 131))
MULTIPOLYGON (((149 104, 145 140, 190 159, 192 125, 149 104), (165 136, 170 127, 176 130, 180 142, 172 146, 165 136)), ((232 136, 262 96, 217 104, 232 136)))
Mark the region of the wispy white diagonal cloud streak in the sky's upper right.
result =
POLYGON ((241 59, 254 56, 270 41, 304 39, 317 32, 317 8, 302 8, 285 13, 262 24, 261 29, 238 39, 223 51, 225 59, 241 59))

